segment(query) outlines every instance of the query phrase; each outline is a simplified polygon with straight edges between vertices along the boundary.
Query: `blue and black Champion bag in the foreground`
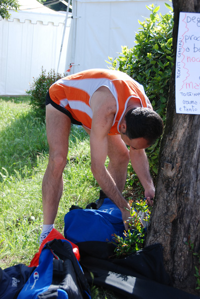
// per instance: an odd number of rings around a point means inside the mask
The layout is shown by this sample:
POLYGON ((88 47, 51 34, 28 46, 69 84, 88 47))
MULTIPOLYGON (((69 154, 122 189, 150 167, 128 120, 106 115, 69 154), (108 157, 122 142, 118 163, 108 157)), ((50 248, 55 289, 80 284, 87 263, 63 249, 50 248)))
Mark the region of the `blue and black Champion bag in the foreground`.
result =
POLYGON ((91 299, 90 287, 67 240, 45 244, 39 265, 17 299, 91 299))

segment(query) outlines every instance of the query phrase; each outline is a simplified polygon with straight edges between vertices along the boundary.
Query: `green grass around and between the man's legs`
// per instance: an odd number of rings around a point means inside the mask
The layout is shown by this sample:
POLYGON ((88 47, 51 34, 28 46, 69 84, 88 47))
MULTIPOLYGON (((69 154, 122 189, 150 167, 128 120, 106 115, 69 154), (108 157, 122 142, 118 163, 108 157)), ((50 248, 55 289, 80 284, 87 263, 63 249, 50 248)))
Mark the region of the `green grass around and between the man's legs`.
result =
MULTIPOLYGON (((29 265, 38 251, 42 229, 41 183, 48 163, 45 124, 36 118, 28 97, 0 98, 0 267, 29 265)), ((71 205, 83 208, 99 197, 90 169, 90 141, 82 127, 73 126, 64 192, 55 221, 63 233, 71 205)), ((132 175, 132 174, 131 174, 132 175)), ((132 181, 132 176, 127 181, 132 181)), ((127 197, 132 196, 128 188, 127 197)), ((92 288, 95 299, 116 299, 112 292, 92 288)))

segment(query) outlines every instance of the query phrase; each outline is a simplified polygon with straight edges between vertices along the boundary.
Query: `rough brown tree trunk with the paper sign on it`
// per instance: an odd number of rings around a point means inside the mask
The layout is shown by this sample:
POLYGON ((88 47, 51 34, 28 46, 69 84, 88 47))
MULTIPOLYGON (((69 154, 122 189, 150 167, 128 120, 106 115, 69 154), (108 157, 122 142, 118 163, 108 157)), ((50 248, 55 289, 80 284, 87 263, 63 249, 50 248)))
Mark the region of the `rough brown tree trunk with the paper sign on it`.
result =
MULTIPOLYGON (((200 0, 173 0, 173 8, 176 54, 179 12, 200 12, 200 0)), ((173 286, 200 296, 194 276, 200 264, 187 244, 200 253, 200 115, 176 114, 175 66, 146 246, 161 243, 173 286)))

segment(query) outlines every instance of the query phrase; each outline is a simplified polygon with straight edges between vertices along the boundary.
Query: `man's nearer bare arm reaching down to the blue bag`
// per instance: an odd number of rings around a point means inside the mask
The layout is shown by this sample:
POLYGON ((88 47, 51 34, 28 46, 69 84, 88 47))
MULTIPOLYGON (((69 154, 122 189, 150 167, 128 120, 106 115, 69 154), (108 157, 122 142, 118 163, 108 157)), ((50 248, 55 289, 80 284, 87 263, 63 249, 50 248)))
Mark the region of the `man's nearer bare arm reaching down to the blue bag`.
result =
MULTIPOLYGON (((104 165, 107 157, 107 134, 113 123, 115 109, 113 108, 112 99, 109 97, 102 99, 102 95, 100 95, 100 98, 96 95, 91 106, 93 109, 93 122, 90 134, 91 170, 101 189, 120 209, 122 219, 125 221, 130 217, 130 206, 121 195, 104 165)), ((128 223, 124 223, 124 225, 125 229, 127 229, 128 223)))

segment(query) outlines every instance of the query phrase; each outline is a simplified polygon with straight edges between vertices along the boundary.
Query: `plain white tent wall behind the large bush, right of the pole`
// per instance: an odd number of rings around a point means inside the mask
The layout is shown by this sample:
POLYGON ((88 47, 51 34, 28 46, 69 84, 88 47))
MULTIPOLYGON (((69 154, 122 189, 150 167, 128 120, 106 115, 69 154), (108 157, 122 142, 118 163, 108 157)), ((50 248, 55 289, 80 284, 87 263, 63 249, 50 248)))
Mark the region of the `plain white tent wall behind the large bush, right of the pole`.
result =
POLYGON ((115 58, 121 46, 135 45, 138 19, 149 17, 146 5, 160 6, 169 12, 169 0, 73 0, 73 19, 68 43, 66 69, 74 63, 71 73, 90 68, 107 68, 105 60, 115 58))

